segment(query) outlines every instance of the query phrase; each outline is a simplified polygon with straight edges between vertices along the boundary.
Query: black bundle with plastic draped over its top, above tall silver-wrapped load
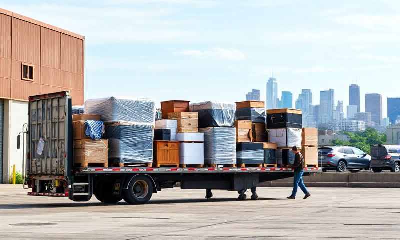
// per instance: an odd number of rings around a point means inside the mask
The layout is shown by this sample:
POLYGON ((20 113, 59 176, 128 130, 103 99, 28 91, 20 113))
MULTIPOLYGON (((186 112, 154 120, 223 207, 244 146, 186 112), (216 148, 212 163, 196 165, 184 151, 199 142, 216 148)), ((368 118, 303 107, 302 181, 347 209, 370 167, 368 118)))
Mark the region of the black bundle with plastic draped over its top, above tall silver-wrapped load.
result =
POLYGON ((236 119, 236 103, 206 101, 190 104, 198 112, 198 127, 232 127, 236 119))

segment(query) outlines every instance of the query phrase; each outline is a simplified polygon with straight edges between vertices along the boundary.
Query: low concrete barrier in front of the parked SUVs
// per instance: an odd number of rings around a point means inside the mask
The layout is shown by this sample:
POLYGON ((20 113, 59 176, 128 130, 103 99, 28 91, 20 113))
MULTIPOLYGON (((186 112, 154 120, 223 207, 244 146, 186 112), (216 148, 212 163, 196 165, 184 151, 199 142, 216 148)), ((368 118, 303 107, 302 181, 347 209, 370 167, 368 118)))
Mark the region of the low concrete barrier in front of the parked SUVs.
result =
MULTIPOLYGON (((304 176, 308 187, 371 187, 371 188, 400 188, 400 173, 312 173, 304 176)), ((276 181, 263 182, 261 187, 292 187, 293 177, 276 181)))

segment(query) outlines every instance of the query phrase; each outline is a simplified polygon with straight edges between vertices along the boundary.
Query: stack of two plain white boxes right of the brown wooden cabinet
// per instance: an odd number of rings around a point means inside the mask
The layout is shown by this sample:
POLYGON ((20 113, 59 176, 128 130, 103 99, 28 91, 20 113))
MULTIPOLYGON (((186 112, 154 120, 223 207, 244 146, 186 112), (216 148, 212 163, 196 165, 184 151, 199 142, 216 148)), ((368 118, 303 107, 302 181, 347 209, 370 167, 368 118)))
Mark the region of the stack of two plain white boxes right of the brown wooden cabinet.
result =
POLYGON ((204 133, 179 132, 176 140, 180 142, 180 165, 182 167, 204 165, 204 133))

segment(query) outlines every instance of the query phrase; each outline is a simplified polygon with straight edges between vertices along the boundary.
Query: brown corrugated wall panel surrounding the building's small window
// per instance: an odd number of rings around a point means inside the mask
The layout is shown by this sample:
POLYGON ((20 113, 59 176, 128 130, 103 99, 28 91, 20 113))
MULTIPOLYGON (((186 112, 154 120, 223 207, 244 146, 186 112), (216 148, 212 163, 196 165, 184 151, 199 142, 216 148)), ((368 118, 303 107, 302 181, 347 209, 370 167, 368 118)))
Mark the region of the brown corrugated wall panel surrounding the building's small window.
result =
POLYGON ((26 100, 40 93, 40 26, 12 18, 11 98, 26 100), (21 80, 22 62, 33 64, 33 80, 21 80))

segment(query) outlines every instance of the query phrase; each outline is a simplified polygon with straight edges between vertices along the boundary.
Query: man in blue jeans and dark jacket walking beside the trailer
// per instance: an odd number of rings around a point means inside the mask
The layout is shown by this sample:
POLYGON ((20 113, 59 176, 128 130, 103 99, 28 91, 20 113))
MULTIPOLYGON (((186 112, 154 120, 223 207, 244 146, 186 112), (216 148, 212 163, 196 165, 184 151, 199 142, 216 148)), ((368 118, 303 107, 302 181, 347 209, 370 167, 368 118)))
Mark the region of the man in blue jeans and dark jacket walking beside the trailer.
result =
POLYGON ((291 167, 294 169, 294 185, 293 185, 293 192, 291 193, 290 196, 287 197, 287 199, 296 199, 296 193, 298 187, 300 187, 305 194, 303 199, 307 199, 308 197, 311 196, 311 194, 309 194, 307 187, 305 187, 303 181, 304 157, 298 150, 297 146, 293 146, 291 148, 291 151, 295 154, 294 163, 291 165, 291 167))

